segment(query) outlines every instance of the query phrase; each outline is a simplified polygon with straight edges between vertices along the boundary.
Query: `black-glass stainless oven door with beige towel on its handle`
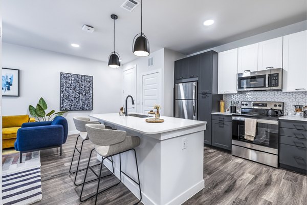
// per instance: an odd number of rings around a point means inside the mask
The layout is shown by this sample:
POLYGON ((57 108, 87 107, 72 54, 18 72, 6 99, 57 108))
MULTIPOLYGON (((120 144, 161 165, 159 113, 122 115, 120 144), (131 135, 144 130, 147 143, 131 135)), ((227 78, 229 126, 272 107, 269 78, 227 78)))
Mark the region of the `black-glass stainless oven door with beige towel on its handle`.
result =
POLYGON ((232 117, 232 144, 278 154, 278 120, 257 119, 254 141, 244 138, 245 117, 232 117))

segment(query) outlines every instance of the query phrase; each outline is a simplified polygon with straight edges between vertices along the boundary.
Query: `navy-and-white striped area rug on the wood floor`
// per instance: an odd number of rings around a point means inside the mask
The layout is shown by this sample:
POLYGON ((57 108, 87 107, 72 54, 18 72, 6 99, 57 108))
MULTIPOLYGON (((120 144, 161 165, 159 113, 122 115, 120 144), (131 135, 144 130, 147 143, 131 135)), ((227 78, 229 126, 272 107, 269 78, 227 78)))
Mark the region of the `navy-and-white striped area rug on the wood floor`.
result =
MULTIPOLYGON (((34 155, 37 156, 37 153, 34 155)), ((7 157, 7 160, 10 158, 11 156, 7 157)), ((41 200, 39 159, 38 153, 38 157, 29 158, 24 163, 15 164, 13 162, 9 166, 10 169, 4 171, 2 175, 2 204, 27 205, 41 200)))

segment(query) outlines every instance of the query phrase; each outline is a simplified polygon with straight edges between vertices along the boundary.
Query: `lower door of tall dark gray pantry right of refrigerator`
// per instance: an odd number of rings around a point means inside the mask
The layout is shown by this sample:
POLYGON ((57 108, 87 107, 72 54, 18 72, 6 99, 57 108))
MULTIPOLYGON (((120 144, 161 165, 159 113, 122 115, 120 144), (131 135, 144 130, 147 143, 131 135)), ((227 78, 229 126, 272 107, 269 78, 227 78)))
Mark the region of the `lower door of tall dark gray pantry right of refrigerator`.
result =
POLYGON ((207 121, 206 130, 204 131, 204 143, 211 145, 212 94, 199 94, 198 109, 198 120, 207 121))

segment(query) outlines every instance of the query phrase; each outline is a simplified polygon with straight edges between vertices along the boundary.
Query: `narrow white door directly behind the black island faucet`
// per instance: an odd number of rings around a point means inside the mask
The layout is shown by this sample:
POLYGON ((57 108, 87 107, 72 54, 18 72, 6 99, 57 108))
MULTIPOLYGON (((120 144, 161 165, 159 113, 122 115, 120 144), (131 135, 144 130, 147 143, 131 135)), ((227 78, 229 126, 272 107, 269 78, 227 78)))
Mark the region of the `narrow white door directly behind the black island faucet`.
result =
MULTIPOLYGON (((125 106, 125 100, 128 95, 131 95, 136 104, 136 68, 131 68, 123 72, 123 95, 122 102, 125 106)), ((136 105, 132 105, 131 98, 128 98, 127 107, 128 113, 136 112, 136 105)))

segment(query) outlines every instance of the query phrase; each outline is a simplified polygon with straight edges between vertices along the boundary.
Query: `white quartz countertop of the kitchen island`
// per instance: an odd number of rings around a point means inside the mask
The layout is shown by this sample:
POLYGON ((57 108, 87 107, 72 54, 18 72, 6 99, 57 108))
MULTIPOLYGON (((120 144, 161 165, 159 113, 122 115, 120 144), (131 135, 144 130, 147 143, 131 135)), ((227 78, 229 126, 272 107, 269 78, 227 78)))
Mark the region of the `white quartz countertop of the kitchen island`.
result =
MULTIPOLYGON (((135 113, 128 113, 135 114, 135 113)), ((141 114, 141 113, 136 113, 141 114)), ((142 114, 145 115, 145 114, 142 114)), ((148 123, 145 121, 147 118, 139 118, 133 116, 120 116, 118 113, 108 113, 108 114, 91 114, 90 117, 100 119, 110 124, 115 124, 118 126, 126 127, 128 129, 143 133, 143 134, 160 134, 165 132, 170 132, 174 130, 180 130, 185 128, 192 128, 206 125, 206 121, 181 119, 174 117, 161 116, 164 122, 161 123, 148 123)))

